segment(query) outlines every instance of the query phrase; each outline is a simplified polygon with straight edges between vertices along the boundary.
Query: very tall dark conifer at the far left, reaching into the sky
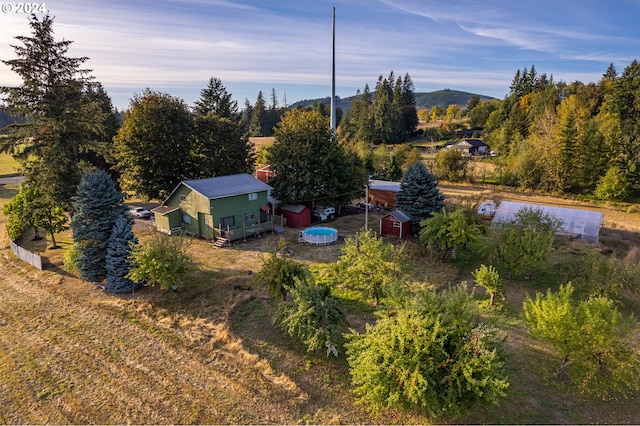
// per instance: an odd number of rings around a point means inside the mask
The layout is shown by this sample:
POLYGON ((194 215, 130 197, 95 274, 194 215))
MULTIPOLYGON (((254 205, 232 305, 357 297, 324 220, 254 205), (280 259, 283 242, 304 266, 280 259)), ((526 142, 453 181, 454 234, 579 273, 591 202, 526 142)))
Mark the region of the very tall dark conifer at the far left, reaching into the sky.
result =
MULTIPOLYGON (((22 78, 22 85, 0 87, 7 110, 24 120, 7 127, 0 149, 21 163, 27 183, 39 185, 49 199, 71 210, 80 182, 80 153, 92 150, 96 131, 104 130, 105 116, 98 102, 85 96, 90 71, 88 58, 67 55, 72 41, 55 41, 53 18, 31 15, 32 35, 18 36, 17 58, 3 60, 22 78)), ((55 207, 55 205, 52 205, 55 207)))

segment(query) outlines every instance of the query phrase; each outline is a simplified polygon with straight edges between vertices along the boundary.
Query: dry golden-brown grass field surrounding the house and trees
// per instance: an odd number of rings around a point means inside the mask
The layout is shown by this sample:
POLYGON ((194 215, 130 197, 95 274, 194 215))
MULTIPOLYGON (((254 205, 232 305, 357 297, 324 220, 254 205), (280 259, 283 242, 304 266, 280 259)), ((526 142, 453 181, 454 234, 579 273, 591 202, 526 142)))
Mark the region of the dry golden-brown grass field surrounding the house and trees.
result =
MULTIPOLYGON (((602 247, 619 252, 640 246, 640 213, 633 206, 587 206, 572 200, 443 186, 451 199, 580 205, 605 213, 602 247)), ((0 188, 0 198, 12 188, 0 188)), ((637 207, 637 206, 636 206, 637 207)), ((377 228, 379 216, 369 224, 377 228)), ((331 223, 339 241, 310 246, 297 231, 284 235, 294 258, 309 264, 335 263, 344 237, 364 225, 364 215, 331 223)), ((177 292, 143 288, 116 296, 62 269, 60 250, 32 248, 49 259, 38 271, 7 248, 0 224, 0 423, 102 424, 426 424, 418 414, 383 411, 377 416, 353 404, 344 359, 307 354, 274 329, 274 301, 251 282, 249 271, 277 247, 279 235, 214 249, 194 239, 198 267, 177 292), (250 289, 246 289, 251 286, 250 289)), ((151 234, 138 221, 141 241, 151 234)), ((58 238, 62 246, 69 234, 58 238)), ((28 238, 24 244, 31 244, 28 238)), ((469 279, 468 268, 415 258, 407 265, 433 284, 469 279)), ((511 386, 499 406, 481 407, 464 419, 438 423, 636 424, 640 397, 594 402, 566 392, 553 380, 557 360, 529 338, 519 317, 530 288, 507 290, 495 313, 508 332, 511 386), (547 374, 548 373, 548 374, 547 374)), ((480 295, 481 296, 481 295, 480 295)), ((480 297, 479 296, 479 297, 480 297)), ((343 300, 345 306, 348 300, 343 300)), ((352 325, 372 321, 372 309, 357 306, 352 325)))

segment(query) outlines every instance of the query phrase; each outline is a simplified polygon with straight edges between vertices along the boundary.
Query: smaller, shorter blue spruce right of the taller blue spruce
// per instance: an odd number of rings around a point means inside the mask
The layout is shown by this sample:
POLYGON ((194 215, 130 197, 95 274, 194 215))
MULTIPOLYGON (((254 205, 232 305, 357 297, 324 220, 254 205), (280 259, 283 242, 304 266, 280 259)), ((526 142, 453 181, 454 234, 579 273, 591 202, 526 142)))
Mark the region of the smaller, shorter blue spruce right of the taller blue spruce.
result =
POLYGON ((138 284, 127 278, 131 264, 129 255, 131 244, 137 244, 138 239, 133 235, 132 222, 127 217, 121 216, 109 237, 107 255, 105 258, 107 267, 107 285, 105 288, 112 293, 132 293, 138 288, 138 284))

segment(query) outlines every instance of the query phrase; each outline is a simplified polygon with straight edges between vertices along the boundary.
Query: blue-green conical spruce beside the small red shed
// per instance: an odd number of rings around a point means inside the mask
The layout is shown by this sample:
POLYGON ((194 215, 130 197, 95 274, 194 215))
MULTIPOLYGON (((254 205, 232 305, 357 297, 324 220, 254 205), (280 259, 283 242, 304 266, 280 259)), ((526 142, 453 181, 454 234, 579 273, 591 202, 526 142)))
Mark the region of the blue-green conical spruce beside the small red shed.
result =
POLYGON ((442 211, 443 202, 444 196, 438 189, 435 175, 422 162, 407 169, 396 194, 396 207, 411 218, 415 232, 418 232, 420 221, 442 211))

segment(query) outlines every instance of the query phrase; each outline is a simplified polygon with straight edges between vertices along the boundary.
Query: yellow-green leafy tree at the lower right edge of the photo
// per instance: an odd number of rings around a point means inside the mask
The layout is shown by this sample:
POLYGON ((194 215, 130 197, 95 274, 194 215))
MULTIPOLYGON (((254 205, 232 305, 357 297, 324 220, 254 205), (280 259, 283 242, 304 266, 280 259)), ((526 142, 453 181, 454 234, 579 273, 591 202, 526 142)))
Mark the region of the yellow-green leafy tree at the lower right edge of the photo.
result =
POLYGON ((557 293, 527 296, 524 316, 531 334, 549 343, 562 360, 556 376, 579 392, 604 399, 640 390, 636 323, 624 318, 606 297, 572 299, 571 283, 557 293))

